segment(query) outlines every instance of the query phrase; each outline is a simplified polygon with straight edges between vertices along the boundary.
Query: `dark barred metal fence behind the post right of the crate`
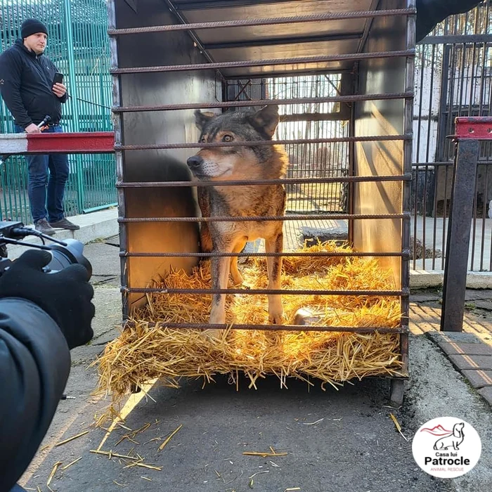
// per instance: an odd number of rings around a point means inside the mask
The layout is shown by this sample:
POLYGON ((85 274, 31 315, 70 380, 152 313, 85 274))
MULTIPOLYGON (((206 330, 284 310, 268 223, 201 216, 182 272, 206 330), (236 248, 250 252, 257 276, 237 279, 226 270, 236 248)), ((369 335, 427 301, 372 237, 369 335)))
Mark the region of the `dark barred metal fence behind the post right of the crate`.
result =
MULTIPOLYGON (((448 18, 417 46, 413 143, 413 269, 443 270, 455 118, 491 115, 492 8, 448 18)), ((492 147, 480 143, 469 252, 471 271, 492 271, 492 147)))

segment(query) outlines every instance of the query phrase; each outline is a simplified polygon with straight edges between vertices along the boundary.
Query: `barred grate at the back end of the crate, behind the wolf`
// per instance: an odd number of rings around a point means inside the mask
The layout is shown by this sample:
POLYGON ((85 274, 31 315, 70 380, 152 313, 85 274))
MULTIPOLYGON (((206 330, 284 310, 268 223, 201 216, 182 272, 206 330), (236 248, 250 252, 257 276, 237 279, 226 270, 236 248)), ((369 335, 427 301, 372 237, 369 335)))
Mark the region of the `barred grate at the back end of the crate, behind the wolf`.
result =
MULTIPOLYGON (((340 94, 341 74, 301 75, 268 79, 228 81, 228 101, 261 99, 293 100, 280 105, 280 141, 302 140, 285 145, 289 155, 287 178, 343 177, 349 174, 349 143, 304 141, 349 136, 347 119, 336 119, 339 106, 350 103, 296 101, 300 98, 335 98, 340 94)), ((346 212, 348 186, 344 183, 308 183, 287 186, 287 213, 346 212)))

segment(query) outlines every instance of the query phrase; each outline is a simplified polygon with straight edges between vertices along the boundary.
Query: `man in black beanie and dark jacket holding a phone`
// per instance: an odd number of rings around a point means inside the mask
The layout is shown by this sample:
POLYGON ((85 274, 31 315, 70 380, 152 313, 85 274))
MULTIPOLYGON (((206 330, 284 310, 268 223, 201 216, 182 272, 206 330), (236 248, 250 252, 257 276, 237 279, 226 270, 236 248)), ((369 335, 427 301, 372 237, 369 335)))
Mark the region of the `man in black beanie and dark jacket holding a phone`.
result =
MULTIPOLYGON (((43 56, 48 30, 39 20, 27 19, 20 32, 22 39, 0 56, 0 92, 15 119, 15 131, 40 133, 37 125, 49 115, 51 121, 44 131, 61 132, 61 103, 67 101, 67 88, 60 83, 53 84, 56 66, 43 56)), ((31 154, 26 159, 31 214, 37 231, 52 235, 54 228, 79 229, 65 219, 63 212, 67 155, 31 154)))

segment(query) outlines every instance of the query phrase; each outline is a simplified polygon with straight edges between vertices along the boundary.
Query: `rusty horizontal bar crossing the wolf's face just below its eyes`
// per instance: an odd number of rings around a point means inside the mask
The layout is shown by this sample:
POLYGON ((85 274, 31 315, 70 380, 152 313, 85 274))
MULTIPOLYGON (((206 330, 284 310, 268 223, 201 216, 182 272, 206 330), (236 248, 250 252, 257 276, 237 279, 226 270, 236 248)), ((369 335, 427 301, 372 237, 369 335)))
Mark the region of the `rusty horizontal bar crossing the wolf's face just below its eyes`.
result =
POLYGON ((260 147, 268 145, 291 145, 295 143, 342 143, 342 142, 385 142, 410 141, 412 136, 406 135, 373 135, 345 136, 334 138, 297 138, 294 140, 252 140, 240 142, 210 142, 210 143, 148 143, 143 145, 115 145, 116 150, 157 150, 171 148, 213 148, 213 147, 260 147))

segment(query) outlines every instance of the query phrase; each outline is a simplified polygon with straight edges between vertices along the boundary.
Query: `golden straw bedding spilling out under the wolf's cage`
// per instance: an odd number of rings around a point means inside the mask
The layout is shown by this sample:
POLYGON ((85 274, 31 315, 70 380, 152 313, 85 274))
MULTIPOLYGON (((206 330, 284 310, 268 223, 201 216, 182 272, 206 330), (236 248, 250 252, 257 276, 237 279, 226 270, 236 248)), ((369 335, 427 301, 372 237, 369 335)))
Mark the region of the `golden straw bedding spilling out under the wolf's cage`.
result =
MULTIPOLYGON (((349 251, 330 242, 304 247, 304 252, 349 251)), ((242 266, 245 282, 266 288, 266 259, 254 258, 242 266)), ((282 287, 306 290, 392 290, 390 272, 377 261, 359 257, 288 257, 283 262, 282 287)), ((171 271, 154 283, 157 287, 209 288, 209 261, 193 270, 171 271)), ((99 389, 112 394, 113 403, 134 385, 157 377, 162 384, 178 387, 181 377, 226 374, 239 388, 240 374, 248 387, 259 379, 276 375, 286 387, 295 377, 313 384, 315 380, 337 385, 368 375, 398 374, 399 335, 339 332, 267 332, 225 330, 220 339, 210 339, 201 330, 166 328, 166 323, 207 323, 211 296, 199 294, 149 294, 148 306, 134 312, 132 328, 106 347, 98 359, 99 389), (159 323, 149 328, 148 323, 159 323)), ((371 296, 283 295, 287 323, 300 308, 309 308, 320 325, 399 325, 399 299, 371 296)), ((268 304, 263 295, 228 295, 227 323, 266 324, 268 304)), ((301 327, 299 327, 301 329, 301 327)))

